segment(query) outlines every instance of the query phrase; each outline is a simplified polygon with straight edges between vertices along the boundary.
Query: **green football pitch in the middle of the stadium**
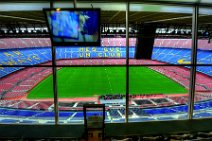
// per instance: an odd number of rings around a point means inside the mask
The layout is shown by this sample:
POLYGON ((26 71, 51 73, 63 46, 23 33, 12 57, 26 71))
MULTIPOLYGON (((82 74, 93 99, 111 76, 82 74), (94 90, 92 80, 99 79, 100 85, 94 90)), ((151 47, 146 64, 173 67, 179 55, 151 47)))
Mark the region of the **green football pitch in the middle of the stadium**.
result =
MULTIPOLYGON (((70 67, 57 71, 58 97, 92 97, 126 93, 125 67, 70 67)), ((166 76, 147 67, 130 67, 130 94, 181 94, 187 90, 166 76)), ((29 99, 53 98, 52 75, 28 94, 29 99)))

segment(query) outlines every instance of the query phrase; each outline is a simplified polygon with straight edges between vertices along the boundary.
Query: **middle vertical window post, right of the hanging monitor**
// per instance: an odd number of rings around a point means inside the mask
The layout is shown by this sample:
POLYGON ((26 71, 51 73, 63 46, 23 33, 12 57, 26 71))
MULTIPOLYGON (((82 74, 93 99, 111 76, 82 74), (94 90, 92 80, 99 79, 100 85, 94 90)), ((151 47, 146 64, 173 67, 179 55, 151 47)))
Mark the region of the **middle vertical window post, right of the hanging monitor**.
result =
POLYGON ((129 113, 129 1, 126 2, 126 109, 125 121, 128 122, 129 113))

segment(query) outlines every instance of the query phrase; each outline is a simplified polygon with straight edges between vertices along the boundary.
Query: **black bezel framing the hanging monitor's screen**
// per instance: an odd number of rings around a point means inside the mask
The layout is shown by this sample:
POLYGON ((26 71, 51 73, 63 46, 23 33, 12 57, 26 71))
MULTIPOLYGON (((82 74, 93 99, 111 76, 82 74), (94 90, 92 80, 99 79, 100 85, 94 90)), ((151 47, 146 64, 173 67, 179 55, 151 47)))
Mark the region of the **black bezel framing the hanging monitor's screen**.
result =
POLYGON ((50 38, 51 38, 51 42, 52 42, 52 46, 101 46, 101 30, 100 30, 100 15, 101 15, 101 9, 100 8, 44 8, 43 9, 44 15, 45 15, 45 20, 46 20, 46 24, 48 27, 48 31, 50 34, 50 38), (47 16, 47 12, 49 11, 97 11, 98 13, 98 40, 96 42, 56 42, 53 39, 53 33, 52 30, 50 30, 49 27, 49 22, 48 22, 48 16, 47 16))

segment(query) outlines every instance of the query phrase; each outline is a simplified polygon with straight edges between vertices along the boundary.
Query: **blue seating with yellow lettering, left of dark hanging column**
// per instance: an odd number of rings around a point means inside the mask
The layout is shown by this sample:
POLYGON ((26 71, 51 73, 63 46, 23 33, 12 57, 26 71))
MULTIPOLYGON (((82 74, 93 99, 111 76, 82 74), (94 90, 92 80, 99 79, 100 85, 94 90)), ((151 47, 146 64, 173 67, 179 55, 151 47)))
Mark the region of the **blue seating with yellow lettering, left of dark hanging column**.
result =
MULTIPOLYGON (((134 47, 130 47, 130 58, 134 57, 134 47)), ((51 48, 21 48, 0 50, 0 78, 22 67, 1 67, 2 65, 36 65, 52 60, 51 48)), ((56 58, 126 58, 125 47, 73 47, 56 48, 56 58)))

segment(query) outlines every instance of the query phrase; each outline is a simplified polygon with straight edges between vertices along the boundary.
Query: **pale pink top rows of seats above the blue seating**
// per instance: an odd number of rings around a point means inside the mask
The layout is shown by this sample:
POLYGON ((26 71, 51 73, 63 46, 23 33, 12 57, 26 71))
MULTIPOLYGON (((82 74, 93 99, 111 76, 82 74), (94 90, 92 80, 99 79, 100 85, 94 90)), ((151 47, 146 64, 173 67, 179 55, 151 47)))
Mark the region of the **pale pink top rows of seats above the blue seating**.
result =
MULTIPOLYGON (((126 46, 125 38, 102 38, 102 46, 126 46)), ((129 45, 136 45, 136 38, 129 39, 129 45)), ((29 47, 50 47, 49 38, 5 38, 0 39, 0 49, 29 48, 29 47)), ((189 48, 191 49, 191 39, 155 39, 155 47, 189 48)), ((212 43, 207 39, 198 40, 198 49, 212 50, 212 43)))

